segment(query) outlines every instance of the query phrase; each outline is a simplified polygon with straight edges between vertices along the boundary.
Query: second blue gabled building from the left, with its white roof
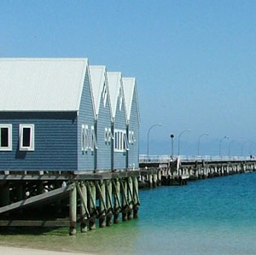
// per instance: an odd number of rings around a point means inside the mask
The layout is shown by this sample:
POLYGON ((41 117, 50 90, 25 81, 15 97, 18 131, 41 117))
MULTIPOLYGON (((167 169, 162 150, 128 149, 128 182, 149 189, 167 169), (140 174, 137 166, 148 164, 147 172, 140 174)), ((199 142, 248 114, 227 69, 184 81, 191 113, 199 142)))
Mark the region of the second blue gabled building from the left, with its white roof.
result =
POLYGON ((97 149, 95 154, 95 169, 97 171, 109 171, 111 170, 113 135, 111 132, 112 113, 106 67, 90 66, 90 80, 96 111, 95 130, 97 149))

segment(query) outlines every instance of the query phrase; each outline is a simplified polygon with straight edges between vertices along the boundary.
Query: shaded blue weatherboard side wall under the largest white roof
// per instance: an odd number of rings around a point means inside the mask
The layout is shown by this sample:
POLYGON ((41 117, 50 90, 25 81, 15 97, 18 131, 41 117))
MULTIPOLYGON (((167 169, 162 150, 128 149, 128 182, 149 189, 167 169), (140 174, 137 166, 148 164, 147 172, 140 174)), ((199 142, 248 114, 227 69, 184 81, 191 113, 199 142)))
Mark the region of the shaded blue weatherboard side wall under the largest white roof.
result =
POLYGON ((77 115, 68 113, 0 113, 1 124, 12 124, 12 151, 0 151, 0 170, 77 170, 77 115), (19 126, 33 124, 34 151, 20 151, 19 126))

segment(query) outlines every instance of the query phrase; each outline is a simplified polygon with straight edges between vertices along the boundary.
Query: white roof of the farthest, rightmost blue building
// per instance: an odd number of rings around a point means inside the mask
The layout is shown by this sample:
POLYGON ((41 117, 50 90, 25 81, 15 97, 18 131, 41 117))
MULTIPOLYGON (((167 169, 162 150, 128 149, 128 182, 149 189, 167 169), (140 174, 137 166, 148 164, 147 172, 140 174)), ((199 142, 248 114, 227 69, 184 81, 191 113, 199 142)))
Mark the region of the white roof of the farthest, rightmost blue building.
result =
MULTIPOLYGON (((124 88, 124 94, 125 94, 126 115, 127 115, 127 121, 129 122, 131 117, 131 104, 132 104, 132 98, 134 93, 136 93, 136 96, 137 96, 136 78, 123 77, 122 80, 123 80, 123 88, 124 88)), ((138 113, 138 119, 140 120, 138 101, 137 101, 137 113, 138 113)))

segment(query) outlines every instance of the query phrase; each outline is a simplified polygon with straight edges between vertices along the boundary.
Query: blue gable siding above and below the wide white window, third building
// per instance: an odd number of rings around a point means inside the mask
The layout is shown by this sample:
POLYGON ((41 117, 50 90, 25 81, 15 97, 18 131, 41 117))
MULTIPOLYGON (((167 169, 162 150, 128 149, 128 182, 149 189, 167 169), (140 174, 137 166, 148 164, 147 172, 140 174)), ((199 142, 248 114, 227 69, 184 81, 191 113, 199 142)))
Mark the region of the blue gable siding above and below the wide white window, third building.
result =
MULTIPOLYGON (((122 95, 123 96, 123 95, 122 95)), ((124 98, 124 96, 123 96, 124 98)), ((126 130, 126 118, 125 118, 125 100, 122 101, 122 108, 119 111, 119 99, 117 103, 116 113, 114 117, 113 128, 118 130, 126 130)), ((125 169, 126 167, 126 151, 125 152, 113 152, 113 169, 125 169)))

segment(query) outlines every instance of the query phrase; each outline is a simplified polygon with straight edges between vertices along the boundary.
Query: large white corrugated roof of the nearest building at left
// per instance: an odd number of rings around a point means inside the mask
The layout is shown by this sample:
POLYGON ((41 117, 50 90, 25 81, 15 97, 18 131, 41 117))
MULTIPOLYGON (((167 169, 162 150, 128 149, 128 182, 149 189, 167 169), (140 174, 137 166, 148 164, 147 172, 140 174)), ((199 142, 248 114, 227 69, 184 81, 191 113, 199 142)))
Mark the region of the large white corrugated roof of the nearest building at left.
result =
POLYGON ((0 111, 79 111, 86 58, 0 58, 0 111))

